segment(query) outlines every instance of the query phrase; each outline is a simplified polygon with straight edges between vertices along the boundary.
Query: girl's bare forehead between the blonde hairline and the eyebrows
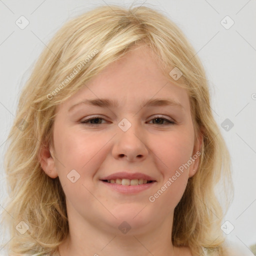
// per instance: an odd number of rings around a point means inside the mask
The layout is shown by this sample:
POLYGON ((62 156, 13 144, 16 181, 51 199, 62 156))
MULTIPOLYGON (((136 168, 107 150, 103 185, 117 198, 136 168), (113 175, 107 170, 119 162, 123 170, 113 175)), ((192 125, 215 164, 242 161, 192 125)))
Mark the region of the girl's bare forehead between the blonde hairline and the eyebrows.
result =
POLYGON ((115 107, 141 104, 154 98, 180 103, 189 110, 185 89, 171 83, 163 73, 157 56, 147 46, 133 47, 122 58, 110 63, 64 103, 66 107, 81 100, 108 98, 115 107))

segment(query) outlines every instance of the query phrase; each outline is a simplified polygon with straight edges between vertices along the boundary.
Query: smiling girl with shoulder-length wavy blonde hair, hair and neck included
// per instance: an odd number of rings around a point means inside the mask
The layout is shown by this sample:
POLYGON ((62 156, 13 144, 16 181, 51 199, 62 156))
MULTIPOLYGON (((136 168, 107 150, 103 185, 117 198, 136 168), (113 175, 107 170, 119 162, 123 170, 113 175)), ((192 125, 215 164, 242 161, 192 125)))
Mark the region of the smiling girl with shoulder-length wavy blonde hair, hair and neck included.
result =
POLYGON ((68 21, 9 141, 12 256, 230 254, 214 193, 232 191, 229 153, 203 67, 161 13, 111 5, 68 21))

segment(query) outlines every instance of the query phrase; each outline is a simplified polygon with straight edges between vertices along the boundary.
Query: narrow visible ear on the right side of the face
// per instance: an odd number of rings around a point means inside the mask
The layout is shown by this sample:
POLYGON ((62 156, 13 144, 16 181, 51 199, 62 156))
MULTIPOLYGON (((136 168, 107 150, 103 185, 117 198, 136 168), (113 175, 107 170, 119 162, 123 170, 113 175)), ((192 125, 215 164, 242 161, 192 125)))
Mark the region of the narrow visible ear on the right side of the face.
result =
POLYGON ((202 142, 203 142, 203 133, 199 132, 199 136, 194 143, 193 153, 190 157, 190 160, 192 161, 192 163, 189 166, 189 173, 188 173, 189 178, 192 177, 197 171, 197 168, 199 165, 199 159, 201 155, 202 142))

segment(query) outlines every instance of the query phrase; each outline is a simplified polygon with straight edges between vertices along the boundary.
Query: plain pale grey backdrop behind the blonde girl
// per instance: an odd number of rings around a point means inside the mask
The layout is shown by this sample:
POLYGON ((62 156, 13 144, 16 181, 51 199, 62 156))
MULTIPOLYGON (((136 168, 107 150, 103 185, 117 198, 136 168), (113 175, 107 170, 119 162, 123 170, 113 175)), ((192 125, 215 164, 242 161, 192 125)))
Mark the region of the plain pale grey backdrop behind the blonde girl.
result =
MULTIPOLYGON (((72 16, 101 4, 129 6, 131 2, 0 0, 0 213, 6 205, 2 167, 5 141, 20 88, 38 54, 72 16), (15 24, 21 15, 29 21, 24 29, 15 24)), ((256 243, 256 1, 147 0, 144 4, 162 10, 182 29, 205 67, 214 117, 232 157, 234 200, 223 222, 230 221, 234 229, 225 235, 250 252, 248 247, 256 243), (226 15, 234 21, 228 29, 222 24, 227 26, 231 20, 225 18, 221 24, 226 15), (229 130, 221 127, 226 118, 233 123, 229 130)), ((225 227, 230 228, 230 224, 225 227)), ((6 242, 9 239, 5 234, 1 237, 6 242)))

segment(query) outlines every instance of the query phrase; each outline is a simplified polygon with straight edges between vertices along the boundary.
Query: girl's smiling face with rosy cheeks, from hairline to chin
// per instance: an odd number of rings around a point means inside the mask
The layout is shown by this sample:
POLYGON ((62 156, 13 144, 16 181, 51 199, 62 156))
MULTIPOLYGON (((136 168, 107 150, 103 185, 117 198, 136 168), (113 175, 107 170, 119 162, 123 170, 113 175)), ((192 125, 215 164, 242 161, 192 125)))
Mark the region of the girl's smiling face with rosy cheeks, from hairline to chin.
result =
POLYGON ((59 177, 69 221, 134 234, 172 221, 199 144, 187 92, 155 59, 135 48, 57 107, 42 167, 59 177))

